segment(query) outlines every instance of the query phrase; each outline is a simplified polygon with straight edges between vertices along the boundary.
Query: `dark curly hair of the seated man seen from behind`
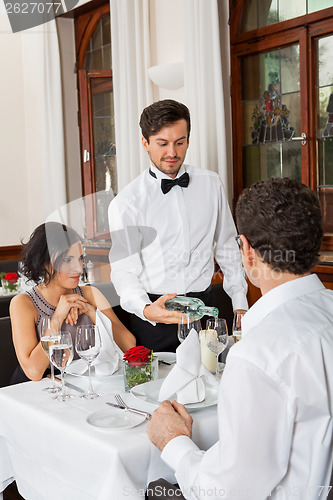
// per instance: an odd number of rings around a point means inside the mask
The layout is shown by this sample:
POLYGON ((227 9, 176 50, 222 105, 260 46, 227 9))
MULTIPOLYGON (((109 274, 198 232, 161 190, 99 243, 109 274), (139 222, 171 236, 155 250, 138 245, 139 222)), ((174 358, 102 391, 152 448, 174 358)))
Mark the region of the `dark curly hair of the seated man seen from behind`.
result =
POLYGON ((273 269, 301 275, 318 262, 323 237, 317 194, 287 177, 257 182, 243 191, 236 206, 243 234, 273 269))

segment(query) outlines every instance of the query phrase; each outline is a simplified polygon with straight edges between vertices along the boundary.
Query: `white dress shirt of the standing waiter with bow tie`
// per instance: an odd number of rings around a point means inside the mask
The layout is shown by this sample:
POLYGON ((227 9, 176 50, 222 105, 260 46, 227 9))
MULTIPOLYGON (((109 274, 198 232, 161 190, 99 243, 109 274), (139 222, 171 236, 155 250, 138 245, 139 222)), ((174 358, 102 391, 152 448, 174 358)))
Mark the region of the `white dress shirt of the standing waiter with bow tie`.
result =
MULTIPOLYGON (((247 309, 247 283, 236 229, 218 175, 183 165, 190 182, 161 191, 170 177, 156 167, 126 186, 109 208, 111 281, 121 306, 142 319, 148 293, 204 291, 214 273, 214 257, 234 309, 247 309)), ((209 304, 207 304, 209 305, 209 304)))

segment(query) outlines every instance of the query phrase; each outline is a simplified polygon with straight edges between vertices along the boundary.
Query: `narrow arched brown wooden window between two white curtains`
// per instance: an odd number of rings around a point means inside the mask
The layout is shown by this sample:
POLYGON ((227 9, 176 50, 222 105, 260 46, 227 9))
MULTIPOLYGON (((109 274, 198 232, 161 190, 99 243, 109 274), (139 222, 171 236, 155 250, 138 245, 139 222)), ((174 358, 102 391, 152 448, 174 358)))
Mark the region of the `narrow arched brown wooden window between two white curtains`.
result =
POLYGON ((118 191, 110 7, 75 19, 86 237, 109 239, 107 207, 118 191))

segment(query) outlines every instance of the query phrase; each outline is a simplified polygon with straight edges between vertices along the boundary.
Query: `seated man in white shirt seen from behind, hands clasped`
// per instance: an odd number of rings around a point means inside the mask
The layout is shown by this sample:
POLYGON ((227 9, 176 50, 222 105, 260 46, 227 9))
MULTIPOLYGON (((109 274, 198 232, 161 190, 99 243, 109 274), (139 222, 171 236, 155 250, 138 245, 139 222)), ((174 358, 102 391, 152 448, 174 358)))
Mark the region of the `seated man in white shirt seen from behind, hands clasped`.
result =
MULTIPOLYGON (((319 201, 295 180, 271 179, 244 191, 236 219, 243 265, 262 297, 244 316, 242 340, 228 354, 219 441, 200 451, 191 441, 192 418, 169 401, 154 412, 148 436, 186 499, 326 498, 333 291, 311 274, 322 239, 319 201)), ((155 498, 151 491, 148 498, 155 498)))

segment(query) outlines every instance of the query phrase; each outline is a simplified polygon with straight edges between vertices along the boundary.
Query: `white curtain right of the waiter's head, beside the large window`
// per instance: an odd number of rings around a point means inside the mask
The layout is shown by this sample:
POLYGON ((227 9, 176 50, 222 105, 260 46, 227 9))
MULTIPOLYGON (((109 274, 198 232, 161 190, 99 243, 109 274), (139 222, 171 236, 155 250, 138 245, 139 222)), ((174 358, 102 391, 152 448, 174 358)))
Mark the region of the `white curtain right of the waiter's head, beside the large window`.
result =
POLYGON ((185 0, 184 86, 192 130, 187 162, 229 191, 217 0, 185 0))

